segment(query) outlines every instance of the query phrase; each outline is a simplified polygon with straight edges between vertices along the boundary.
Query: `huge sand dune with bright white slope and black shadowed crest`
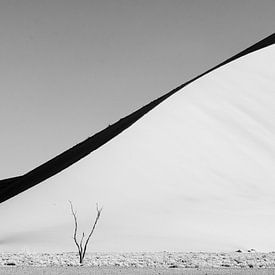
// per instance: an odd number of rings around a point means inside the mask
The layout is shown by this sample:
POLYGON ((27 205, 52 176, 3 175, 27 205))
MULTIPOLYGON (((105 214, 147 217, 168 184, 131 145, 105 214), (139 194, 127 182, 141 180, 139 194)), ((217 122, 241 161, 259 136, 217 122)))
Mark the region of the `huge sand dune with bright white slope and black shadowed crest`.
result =
POLYGON ((68 200, 97 251, 274 250, 274 40, 1 181, 0 250, 74 250, 68 200))

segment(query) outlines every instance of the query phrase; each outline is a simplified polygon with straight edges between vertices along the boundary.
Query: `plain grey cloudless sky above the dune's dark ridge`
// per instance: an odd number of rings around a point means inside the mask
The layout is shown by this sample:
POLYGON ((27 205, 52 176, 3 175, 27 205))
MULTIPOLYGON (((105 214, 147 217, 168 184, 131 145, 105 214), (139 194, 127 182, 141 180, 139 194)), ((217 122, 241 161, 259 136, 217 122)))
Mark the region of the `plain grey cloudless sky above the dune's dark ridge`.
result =
POLYGON ((1 0, 0 178, 272 34, 274 0, 1 0))

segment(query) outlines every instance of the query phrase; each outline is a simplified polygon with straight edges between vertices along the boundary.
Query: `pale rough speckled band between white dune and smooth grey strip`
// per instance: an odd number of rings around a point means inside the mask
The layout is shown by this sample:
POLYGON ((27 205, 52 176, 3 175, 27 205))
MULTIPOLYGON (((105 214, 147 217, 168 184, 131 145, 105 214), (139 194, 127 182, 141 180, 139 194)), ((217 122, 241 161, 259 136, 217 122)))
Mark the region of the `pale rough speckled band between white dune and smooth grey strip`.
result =
MULTIPOLYGON (((0 253, 0 267, 11 266, 77 267, 79 260, 77 253, 0 253)), ((275 252, 87 253, 82 267, 270 269, 275 268, 275 252)))

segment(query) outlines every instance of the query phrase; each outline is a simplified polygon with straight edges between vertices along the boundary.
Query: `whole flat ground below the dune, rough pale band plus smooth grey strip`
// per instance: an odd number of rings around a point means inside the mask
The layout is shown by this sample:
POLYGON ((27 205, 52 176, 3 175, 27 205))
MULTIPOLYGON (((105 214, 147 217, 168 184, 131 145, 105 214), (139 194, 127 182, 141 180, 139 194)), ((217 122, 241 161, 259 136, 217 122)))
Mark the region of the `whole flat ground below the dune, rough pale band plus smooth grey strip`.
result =
POLYGON ((0 274, 275 275, 275 252, 0 253, 0 274))

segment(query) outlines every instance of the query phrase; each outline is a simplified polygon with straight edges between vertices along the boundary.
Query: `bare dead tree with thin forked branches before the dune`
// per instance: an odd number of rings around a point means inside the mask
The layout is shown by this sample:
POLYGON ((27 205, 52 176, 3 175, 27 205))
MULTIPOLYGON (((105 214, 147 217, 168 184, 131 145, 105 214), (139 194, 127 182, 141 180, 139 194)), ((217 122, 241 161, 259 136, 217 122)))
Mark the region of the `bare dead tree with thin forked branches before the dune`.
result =
POLYGON ((80 242, 78 242, 78 240, 77 240, 77 229, 78 229, 77 216, 76 216, 76 212, 74 211, 72 202, 69 201, 69 203, 70 203, 71 211, 72 211, 72 214, 73 214, 73 217, 74 217, 74 236, 73 236, 73 238, 74 238, 75 245, 78 249, 79 262, 80 262, 80 264, 82 264, 83 260, 84 260, 84 257, 85 257, 85 254, 86 254, 86 250, 87 250, 89 240, 90 240, 91 236, 93 235, 96 224, 99 220, 99 217, 100 217, 100 214, 101 214, 101 211, 102 211, 102 207, 98 208, 98 205, 96 204, 96 211, 97 211, 96 219, 95 219, 94 225, 93 225, 93 227, 92 227, 92 229, 91 229, 91 231, 88 235, 88 238, 85 241, 84 247, 83 247, 83 240, 84 240, 85 234, 84 234, 84 232, 82 233, 81 240, 80 240, 80 242))

